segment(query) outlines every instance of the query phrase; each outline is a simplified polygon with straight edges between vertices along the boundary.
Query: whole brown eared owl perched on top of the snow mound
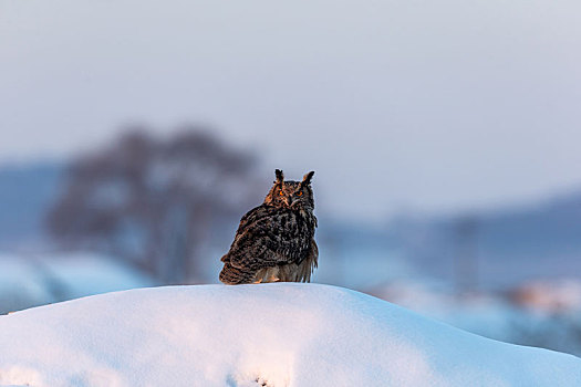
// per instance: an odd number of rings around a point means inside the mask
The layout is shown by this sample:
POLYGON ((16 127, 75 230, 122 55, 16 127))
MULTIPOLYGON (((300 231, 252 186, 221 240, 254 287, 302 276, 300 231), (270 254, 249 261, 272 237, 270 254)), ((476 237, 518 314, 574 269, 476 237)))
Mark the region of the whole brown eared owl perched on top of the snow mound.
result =
POLYGON ((240 220, 230 250, 221 258, 220 281, 226 284, 309 282, 317 268, 317 218, 311 178, 287 180, 277 169, 264 202, 240 220))

